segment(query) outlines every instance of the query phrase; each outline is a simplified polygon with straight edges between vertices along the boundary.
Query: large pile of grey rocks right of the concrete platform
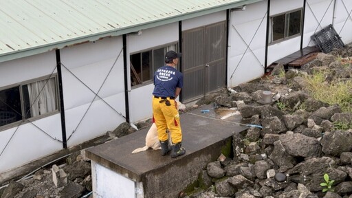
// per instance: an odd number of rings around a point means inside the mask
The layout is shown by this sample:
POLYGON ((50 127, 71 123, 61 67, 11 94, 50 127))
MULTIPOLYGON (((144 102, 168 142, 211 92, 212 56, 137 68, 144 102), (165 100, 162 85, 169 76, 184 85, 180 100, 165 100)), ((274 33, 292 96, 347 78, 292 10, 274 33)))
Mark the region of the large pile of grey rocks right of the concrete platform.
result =
POLYGON ((254 126, 233 135, 233 159, 221 156, 209 163, 199 175, 199 188, 186 197, 352 197, 352 129, 334 128, 334 123, 351 127, 352 112, 311 98, 302 77, 329 69, 327 81, 351 79, 351 61, 338 60, 341 56, 352 57, 352 46, 318 54, 282 77, 278 74, 283 65, 278 65, 270 78, 214 98, 219 106, 237 107, 243 120, 254 126), (261 104, 263 91, 281 97, 261 104), (327 183, 325 174, 333 184, 323 192, 328 187, 320 185, 327 183))

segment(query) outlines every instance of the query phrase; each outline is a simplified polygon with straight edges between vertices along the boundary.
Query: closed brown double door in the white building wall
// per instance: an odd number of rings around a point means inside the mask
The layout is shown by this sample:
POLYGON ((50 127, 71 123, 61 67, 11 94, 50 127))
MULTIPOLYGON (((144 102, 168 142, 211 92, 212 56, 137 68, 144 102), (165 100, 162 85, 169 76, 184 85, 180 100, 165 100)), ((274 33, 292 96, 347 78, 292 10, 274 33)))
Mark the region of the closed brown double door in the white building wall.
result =
POLYGON ((188 102, 225 87, 226 23, 182 32, 182 100, 188 102))

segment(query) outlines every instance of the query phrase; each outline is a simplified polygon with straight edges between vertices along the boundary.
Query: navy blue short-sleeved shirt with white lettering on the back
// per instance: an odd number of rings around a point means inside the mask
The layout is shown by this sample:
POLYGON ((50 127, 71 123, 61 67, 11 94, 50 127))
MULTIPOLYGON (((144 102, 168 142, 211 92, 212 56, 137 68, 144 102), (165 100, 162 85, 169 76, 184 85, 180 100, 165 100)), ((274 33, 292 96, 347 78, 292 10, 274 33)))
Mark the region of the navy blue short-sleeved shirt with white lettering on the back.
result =
POLYGON ((154 96, 175 97, 176 87, 182 88, 184 76, 171 66, 163 66, 154 74, 154 96))

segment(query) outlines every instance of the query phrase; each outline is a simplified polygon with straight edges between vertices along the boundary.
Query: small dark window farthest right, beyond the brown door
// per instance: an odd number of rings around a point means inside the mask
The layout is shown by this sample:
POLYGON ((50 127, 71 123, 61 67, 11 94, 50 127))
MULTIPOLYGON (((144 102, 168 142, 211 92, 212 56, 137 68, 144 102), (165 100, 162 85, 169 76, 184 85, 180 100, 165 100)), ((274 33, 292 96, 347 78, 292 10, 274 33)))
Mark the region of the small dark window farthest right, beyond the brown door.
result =
POLYGON ((302 29, 302 9, 278 14, 270 18, 270 41, 282 41, 300 35, 302 29))

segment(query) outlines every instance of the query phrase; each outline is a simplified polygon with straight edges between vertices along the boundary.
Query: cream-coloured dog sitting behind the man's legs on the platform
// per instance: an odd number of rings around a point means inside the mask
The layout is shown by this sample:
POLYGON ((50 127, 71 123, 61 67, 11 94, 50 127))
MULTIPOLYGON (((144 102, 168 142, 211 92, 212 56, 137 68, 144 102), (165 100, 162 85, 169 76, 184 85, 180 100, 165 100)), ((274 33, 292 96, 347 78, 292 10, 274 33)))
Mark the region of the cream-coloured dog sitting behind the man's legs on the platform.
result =
MULTIPOLYGON (((177 109, 180 111, 184 111, 184 109, 186 109, 186 106, 181 102, 177 101, 177 109)), ((170 132, 168 132, 168 144, 172 144, 170 132)), ((132 153, 140 153, 142 151, 146 151, 148 148, 153 148, 154 150, 162 149, 162 146, 159 142, 159 138, 157 138, 157 126, 155 125, 155 123, 151 124, 151 128, 148 130, 148 133, 146 133, 146 146, 136 148, 134 151, 132 151, 132 153)))

